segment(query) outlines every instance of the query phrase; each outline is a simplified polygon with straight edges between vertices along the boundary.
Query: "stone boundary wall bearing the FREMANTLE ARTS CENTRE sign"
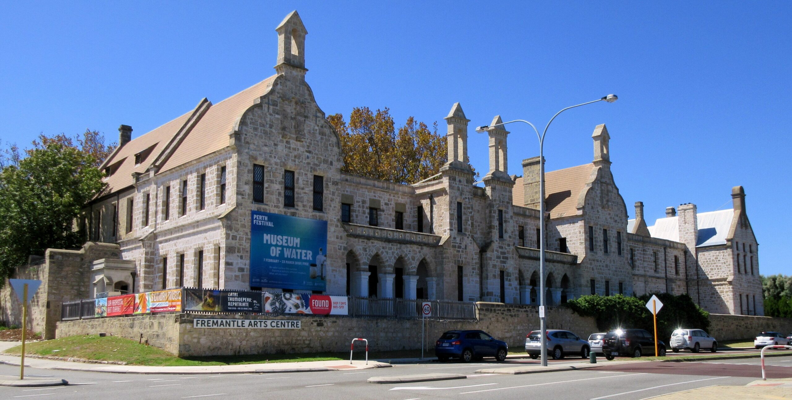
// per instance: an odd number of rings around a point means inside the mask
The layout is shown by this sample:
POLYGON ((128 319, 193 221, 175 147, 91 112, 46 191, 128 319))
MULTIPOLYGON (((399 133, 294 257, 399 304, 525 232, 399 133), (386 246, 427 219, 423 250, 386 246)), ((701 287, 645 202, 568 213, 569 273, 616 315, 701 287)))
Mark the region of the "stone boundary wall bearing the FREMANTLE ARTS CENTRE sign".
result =
MULTIPOLYGON (((480 329, 508 343, 511 353, 524 352, 525 335, 539 329, 538 307, 520 304, 478 303, 478 322, 426 321, 426 343, 446 330, 480 329)), ((549 308, 548 329, 572 330, 581 338, 596 332, 594 319, 575 315, 569 308, 549 308)), ((352 338, 368 339, 372 351, 420 349, 420 319, 351 318, 319 315, 138 315, 82 319, 58 323, 58 338, 106 332, 132 340, 148 340, 180 357, 267 353, 346 352, 352 338), (280 319, 299 320, 302 328, 246 329, 194 328, 193 320, 280 319)))

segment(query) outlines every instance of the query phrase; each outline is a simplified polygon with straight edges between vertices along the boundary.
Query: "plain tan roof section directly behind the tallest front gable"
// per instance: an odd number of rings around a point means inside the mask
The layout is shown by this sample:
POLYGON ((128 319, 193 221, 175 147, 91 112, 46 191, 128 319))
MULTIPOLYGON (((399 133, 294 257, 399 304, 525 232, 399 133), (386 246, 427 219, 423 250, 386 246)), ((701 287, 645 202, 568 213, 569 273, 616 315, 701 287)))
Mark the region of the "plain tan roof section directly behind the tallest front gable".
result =
POLYGON ((184 141, 165 161, 165 164, 162 164, 159 172, 168 171, 227 147, 229 145, 228 134, 234 130, 242 113, 252 106, 257 98, 269 92, 276 77, 277 75, 272 75, 272 77, 211 106, 196 123, 196 126, 189 131, 184 141))

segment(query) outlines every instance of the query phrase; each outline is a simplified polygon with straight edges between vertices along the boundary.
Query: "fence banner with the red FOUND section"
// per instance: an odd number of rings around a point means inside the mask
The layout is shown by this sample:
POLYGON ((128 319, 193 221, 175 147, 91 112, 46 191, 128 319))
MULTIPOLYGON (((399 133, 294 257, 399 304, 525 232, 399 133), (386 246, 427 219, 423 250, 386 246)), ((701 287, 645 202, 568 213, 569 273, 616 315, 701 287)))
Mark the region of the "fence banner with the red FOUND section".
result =
POLYGON ((264 311, 284 314, 348 315, 347 296, 306 293, 264 293, 264 311))

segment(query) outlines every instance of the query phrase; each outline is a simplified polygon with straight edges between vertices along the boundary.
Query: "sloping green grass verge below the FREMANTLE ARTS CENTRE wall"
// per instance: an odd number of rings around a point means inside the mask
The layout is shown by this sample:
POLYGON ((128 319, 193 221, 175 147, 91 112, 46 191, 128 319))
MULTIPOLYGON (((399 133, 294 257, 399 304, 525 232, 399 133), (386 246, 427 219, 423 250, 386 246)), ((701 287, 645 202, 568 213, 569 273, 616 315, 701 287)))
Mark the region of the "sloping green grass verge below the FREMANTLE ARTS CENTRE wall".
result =
MULTIPOLYGON (((6 350, 6 353, 10 354, 19 354, 20 352, 21 346, 6 350)), ((25 345, 25 353, 97 361, 124 361, 130 365, 152 366, 266 364, 349 359, 349 353, 253 354, 180 358, 158 347, 140 345, 126 338, 116 336, 100 338, 98 335, 70 336, 43 342, 30 342, 25 345)), ((362 360, 364 357, 363 351, 356 350, 355 360, 362 360)), ((369 359, 403 357, 421 357, 421 350, 368 353, 369 359)), ((425 353, 425 357, 432 357, 432 353, 425 353)))

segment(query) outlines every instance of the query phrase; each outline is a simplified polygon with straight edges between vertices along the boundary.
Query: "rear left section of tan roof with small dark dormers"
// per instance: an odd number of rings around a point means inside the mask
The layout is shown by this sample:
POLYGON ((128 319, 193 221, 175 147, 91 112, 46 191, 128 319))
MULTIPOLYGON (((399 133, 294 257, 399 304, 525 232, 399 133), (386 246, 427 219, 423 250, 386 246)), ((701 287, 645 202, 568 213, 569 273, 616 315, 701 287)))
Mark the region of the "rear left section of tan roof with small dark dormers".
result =
POLYGON ((193 110, 190 110, 185 115, 181 115, 177 119, 173 119, 165 125, 151 130, 147 134, 143 134, 138 138, 123 145, 112 156, 105 160, 106 167, 112 168, 112 175, 105 179, 108 186, 104 191, 97 194, 97 198, 110 194, 115 191, 120 191, 126 187, 131 187, 135 180, 132 178, 133 172, 143 172, 150 167, 155 158, 159 156, 165 145, 170 142, 181 126, 185 124, 193 110), (141 153, 149 149, 147 157, 139 165, 135 165, 135 154, 141 153))

